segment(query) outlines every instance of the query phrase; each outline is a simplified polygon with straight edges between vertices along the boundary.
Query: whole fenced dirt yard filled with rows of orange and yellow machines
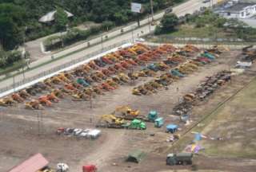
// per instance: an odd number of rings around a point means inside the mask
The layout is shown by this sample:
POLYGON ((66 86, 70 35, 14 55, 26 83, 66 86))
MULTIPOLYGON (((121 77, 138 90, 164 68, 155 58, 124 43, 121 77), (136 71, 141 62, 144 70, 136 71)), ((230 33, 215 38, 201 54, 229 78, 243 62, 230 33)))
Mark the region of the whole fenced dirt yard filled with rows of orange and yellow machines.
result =
POLYGON ((0 170, 39 152, 70 171, 254 171, 256 66, 234 68, 254 53, 134 44, 19 90, 1 99, 0 170), (192 165, 166 165, 183 151, 192 165))

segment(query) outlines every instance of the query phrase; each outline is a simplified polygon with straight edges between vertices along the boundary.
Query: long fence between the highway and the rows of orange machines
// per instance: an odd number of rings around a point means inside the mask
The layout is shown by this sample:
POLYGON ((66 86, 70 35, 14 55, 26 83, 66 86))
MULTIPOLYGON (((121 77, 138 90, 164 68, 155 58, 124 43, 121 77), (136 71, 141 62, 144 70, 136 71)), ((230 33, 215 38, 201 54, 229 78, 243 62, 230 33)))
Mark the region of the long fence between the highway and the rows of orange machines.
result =
POLYGON ((21 85, 23 85, 23 84, 27 84, 27 83, 29 83, 29 82, 31 82, 31 81, 33 81, 33 80, 37 80, 38 78, 41 78, 41 77, 43 77, 43 76, 50 75, 51 73, 58 72, 59 70, 62 70, 63 68, 68 68, 68 67, 70 67, 70 66, 72 66, 72 65, 75 65, 75 64, 81 62, 81 61, 85 61, 86 59, 89 59, 89 58, 94 57, 94 56, 96 56, 96 55, 98 55, 98 54, 100 54, 100 53, 104 53, 104 52, 106 52, 106 51, 108 51, 108 50, 110 50, 110 49, 114 49, 114 48, 116 48, 116 47, 118 47, 118 46, 124 45, 124 44, 129 43, 129 42, 131 42, 130 39, 129 39, 129 40, 125 40, 125 41, 120 41, 120 42, 118 42, 118 43, 116 43, 116 44, 114 44, 114 45, 107 46, 107 47, 102 48, 102 49, 100 49, 100 50, 98 50, 98 51, 95 51, 95 52, 93 52, 93 53, 89 53, 89 54, 87 54, 87 55, 84 56, 84 57, 80 57, 80 58, 75 59, 75 60, 73 60, 73 61, 69 61, 69 62, 67 62, 67 63, 65 63, 65 64, 58 65, 58 66, 56 66, 56 67, 54 67, 54 68, 51 68, 50 70, 41 72, 41 73, 39 73, 38 75, 25 78, 25 79, 20 80, 20 81, 18 81, 18 82, 15 82, 15 76, 13 76, 14 83, 11 84, 11 85, 9 85, 9 86, 6 86, 5 88, 1 88, 1 89, 0 89, 0 93, 6 92, 6 91, 8 91, 8 90, 10 90, 10 89, 13 89, 13 88, 17 88, 17 87, 19 87, 19 86, 21 86, 21 85))

